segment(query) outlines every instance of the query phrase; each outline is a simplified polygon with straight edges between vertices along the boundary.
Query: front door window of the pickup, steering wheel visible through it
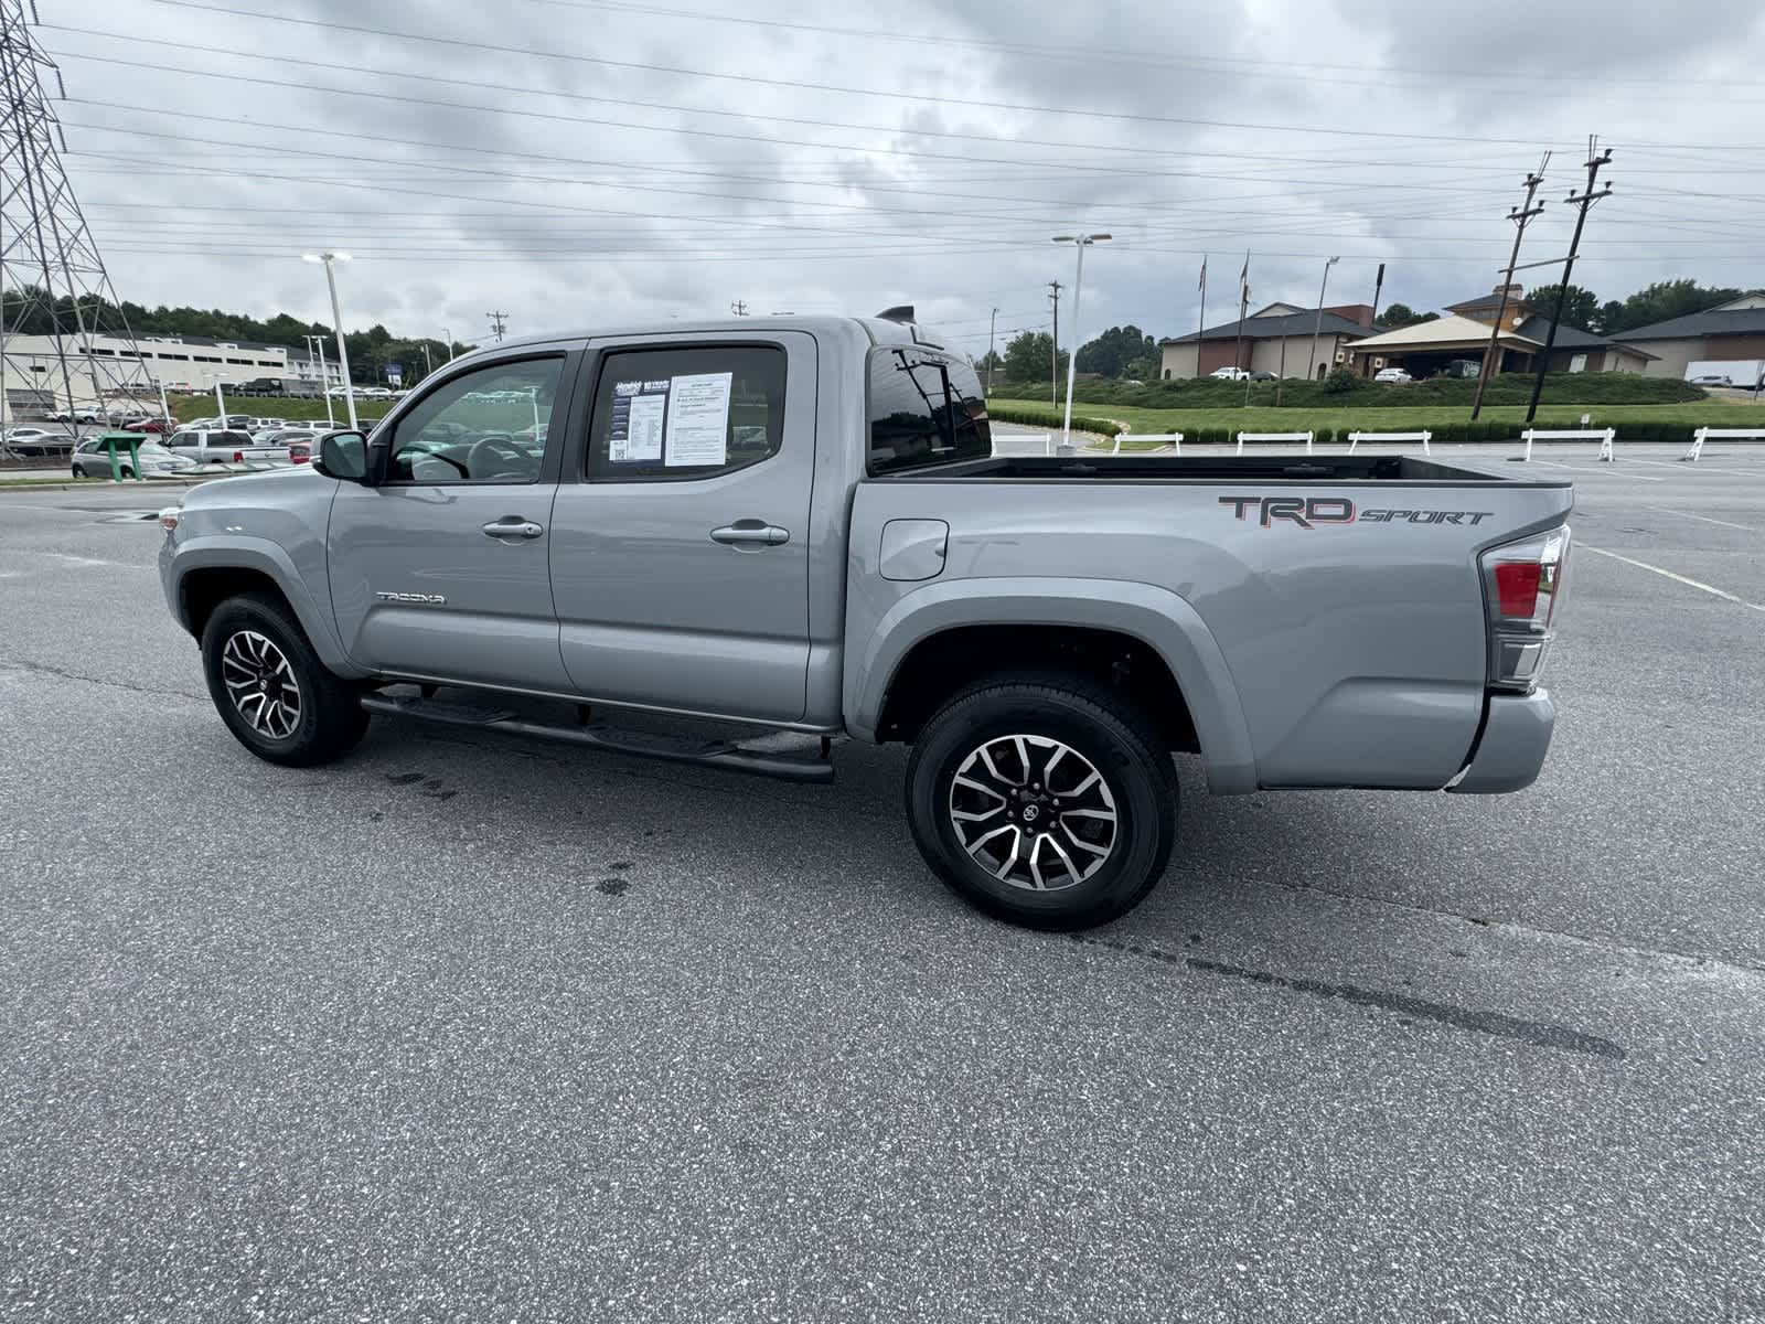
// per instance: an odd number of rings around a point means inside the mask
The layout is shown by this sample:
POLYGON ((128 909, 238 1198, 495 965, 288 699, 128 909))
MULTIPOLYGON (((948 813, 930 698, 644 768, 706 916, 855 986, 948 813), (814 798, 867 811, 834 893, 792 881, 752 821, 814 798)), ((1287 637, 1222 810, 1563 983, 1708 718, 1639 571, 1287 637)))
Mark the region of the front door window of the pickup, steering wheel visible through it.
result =
POLYGON ((388 482, 538 482, 563 358, 462 372, 392 434, 388 482))

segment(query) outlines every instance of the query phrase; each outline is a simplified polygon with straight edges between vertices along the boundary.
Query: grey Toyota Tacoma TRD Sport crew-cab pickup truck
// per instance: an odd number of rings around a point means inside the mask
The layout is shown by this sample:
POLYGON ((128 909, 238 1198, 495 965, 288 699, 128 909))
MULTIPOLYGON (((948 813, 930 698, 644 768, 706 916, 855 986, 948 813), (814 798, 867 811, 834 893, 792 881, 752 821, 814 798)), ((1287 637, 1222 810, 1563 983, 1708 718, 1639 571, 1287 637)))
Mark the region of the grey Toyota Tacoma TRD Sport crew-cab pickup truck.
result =
POLYGON ((311 471, 192 489, 161 575, 258 757, 376 713, 805 782, 904 741, 932 870, 1077 929, 1163 874, 1172 752, 1214 794, 1530 784, 1571 505, 1394 455, 994 455, 898 309, 480 350, 311 471))

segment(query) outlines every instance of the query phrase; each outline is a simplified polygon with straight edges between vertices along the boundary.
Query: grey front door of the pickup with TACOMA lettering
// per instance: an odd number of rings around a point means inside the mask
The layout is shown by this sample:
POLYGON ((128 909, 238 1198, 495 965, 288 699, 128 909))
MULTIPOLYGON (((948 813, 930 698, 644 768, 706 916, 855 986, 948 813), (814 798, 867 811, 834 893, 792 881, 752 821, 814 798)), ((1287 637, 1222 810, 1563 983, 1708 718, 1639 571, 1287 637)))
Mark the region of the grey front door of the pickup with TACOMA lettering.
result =
POLYGON ((577 358, 528 350, 439 380, 388 424, 387 482, 339 485, 330 588, 353 660, 568 692, 547 553, 577 358))

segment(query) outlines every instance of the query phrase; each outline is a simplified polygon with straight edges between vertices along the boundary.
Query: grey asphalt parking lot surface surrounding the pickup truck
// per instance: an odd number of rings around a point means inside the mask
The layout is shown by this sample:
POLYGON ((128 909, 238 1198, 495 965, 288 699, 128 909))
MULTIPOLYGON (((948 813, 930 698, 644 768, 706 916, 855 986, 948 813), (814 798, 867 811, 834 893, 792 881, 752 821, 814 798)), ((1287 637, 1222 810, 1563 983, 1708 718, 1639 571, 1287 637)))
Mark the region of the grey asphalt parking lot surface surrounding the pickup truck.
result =
POLYGON ((1534 789, 1184 761, 1080 939, 927 874, 898 750, 261 764, 159 493, 0 493, 0 1315, 1765 1319, 1765 448, 1675 455, 1536 461, 1534 789))

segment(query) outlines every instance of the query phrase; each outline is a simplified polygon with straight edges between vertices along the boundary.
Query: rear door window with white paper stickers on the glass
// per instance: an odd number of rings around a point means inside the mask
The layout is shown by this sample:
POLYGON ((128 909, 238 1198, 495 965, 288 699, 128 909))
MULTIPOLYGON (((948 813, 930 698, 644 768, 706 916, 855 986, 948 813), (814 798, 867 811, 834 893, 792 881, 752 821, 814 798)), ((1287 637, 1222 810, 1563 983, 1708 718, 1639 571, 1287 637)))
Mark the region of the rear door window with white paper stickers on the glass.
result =
POLYGON ((713 478, 784 445, 775 344, 625 350, 602 360, 588 445, 597 480, 713 478))

